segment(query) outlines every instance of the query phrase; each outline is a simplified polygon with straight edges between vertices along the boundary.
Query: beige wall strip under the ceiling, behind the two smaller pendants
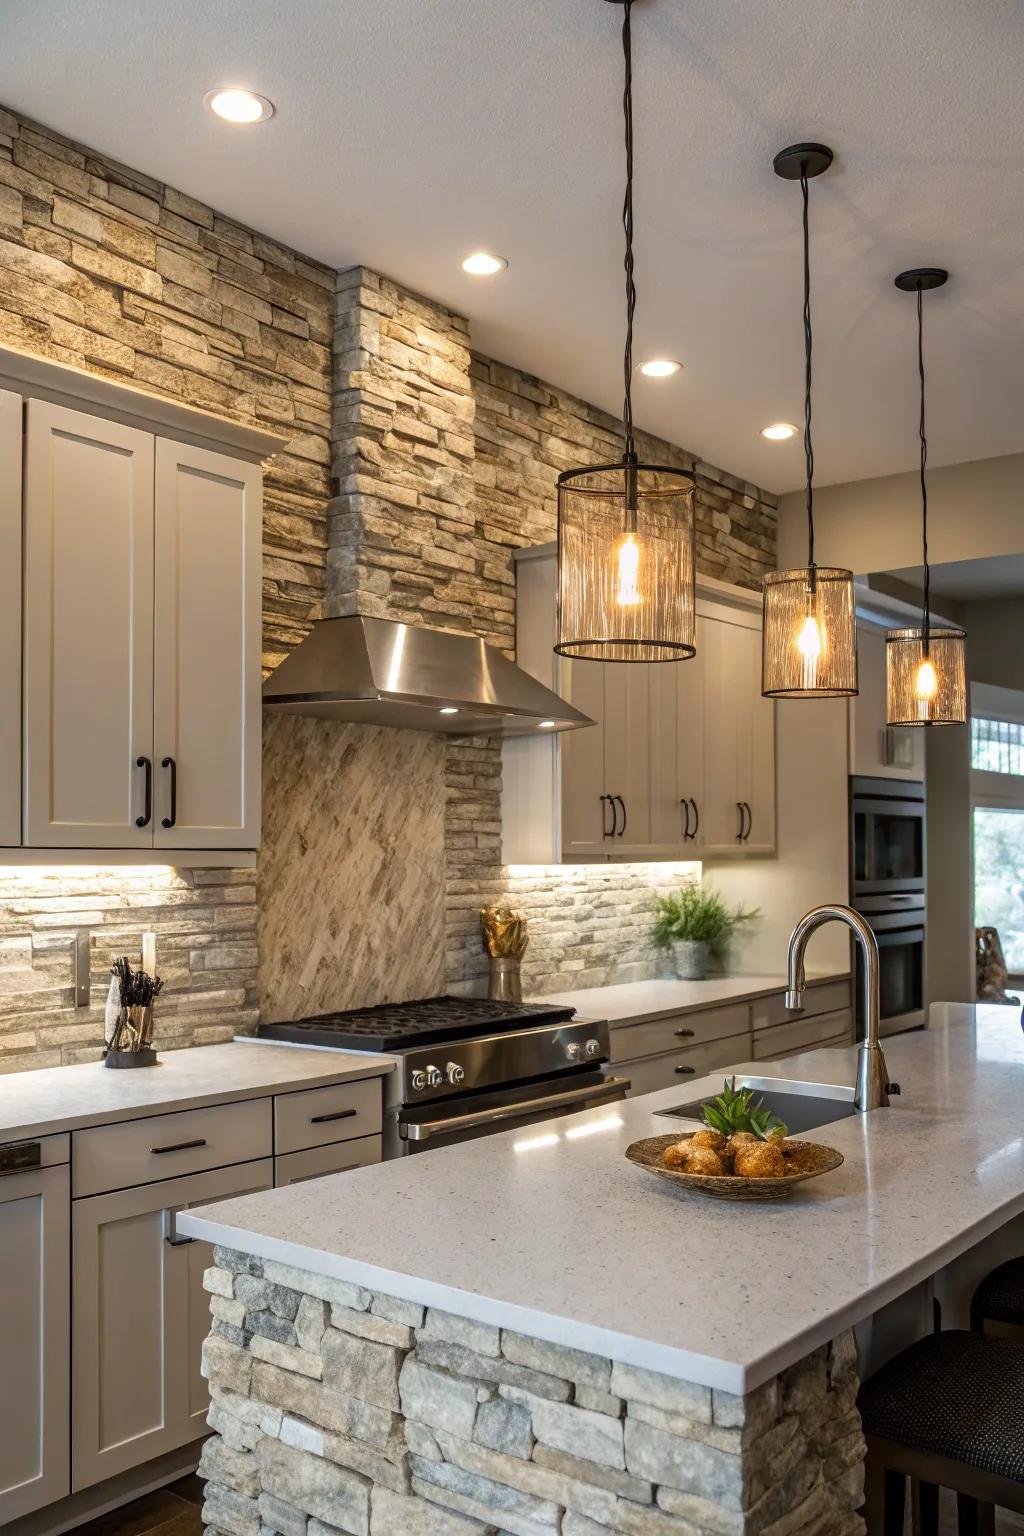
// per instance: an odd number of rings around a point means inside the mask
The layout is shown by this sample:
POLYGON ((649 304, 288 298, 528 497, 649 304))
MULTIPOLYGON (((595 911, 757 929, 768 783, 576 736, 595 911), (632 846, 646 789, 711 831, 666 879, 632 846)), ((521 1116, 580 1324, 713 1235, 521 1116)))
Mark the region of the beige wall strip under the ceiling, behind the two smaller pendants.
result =
MULTIPOLYGON (((920 498, 917 470, 815 488, 818 562, 858 576, 920 564, 920 498)), ((1024 453, 929 470, 929 544, 933 565, 1024 551, 1024 453)), ((806 558, 804 498, 792 492, 778 504, 778 564, 806 558)))

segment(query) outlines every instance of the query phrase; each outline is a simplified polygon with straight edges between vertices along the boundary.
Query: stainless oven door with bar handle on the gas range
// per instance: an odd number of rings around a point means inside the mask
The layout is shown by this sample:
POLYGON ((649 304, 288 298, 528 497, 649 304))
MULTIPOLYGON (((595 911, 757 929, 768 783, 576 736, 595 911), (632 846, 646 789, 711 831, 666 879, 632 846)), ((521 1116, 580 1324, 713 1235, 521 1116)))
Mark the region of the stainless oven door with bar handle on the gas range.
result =
POLYGON ((425 1152, 430 1147, 473 1141, 496 1130, 531 1126, 556 1115, 571 1115, 577 1109, 611 1104, 629 1092, 628 1077, 550 1078, 496 1094, 473 1094, 444 1103, 402 1107, 398 1114, 398 1135, 402 1152, 425 1152))

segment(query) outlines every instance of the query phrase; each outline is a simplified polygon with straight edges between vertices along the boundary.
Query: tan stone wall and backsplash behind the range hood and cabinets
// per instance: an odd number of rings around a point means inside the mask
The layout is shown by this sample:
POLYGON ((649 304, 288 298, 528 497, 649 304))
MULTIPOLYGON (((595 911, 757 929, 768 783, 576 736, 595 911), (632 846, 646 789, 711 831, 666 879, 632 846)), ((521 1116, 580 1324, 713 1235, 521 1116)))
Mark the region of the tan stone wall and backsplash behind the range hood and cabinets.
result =
MULTIPOLYGON (((3 109, 0 344, 287 435, 264 468, 267 670, 322 611, 356 608, 511 650, 513 550, 553 536, 559 470, 619 452, 611 416, 473 355, 444 306, 365 269, 336 275, 3 109)), ((755 584, 774 501, 695 472, 700 568, 755 584)), ((146 929, 164 1044, 224 1038, 258 1006, 479 988, 476 909, 499 899, 528 911, 536 991, 651 974, 649 899, 671 866, 508 877, 494 743, 424 737, 404 754, 395 733, 276 722, 264 760, 256 872, 0 871, 0 1068, 95 1058, 101 978, 146 929)))

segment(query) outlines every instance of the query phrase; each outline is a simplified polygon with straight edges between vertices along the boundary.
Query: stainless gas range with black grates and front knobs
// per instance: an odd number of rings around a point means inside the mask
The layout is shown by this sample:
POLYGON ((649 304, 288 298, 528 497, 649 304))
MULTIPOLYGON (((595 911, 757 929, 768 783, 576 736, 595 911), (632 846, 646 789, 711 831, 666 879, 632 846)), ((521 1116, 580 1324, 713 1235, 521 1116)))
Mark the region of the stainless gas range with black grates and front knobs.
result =
POLYGON ((430 997, 259 1025, 261 1040, 398 1058, 385 1155, 622 1098, 608 1025, 554 1003, 430 997))

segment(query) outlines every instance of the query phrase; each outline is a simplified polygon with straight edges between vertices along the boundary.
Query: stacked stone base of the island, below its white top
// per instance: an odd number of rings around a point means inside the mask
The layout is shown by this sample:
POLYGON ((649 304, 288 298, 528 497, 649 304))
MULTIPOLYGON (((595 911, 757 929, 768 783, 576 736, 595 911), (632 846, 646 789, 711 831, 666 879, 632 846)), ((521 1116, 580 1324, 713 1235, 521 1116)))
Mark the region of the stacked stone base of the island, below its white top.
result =
POLYGON ((852 1333, 746 1398, 244 1253, 206 1273, 210 1536, 858 1536, 852 1333))

